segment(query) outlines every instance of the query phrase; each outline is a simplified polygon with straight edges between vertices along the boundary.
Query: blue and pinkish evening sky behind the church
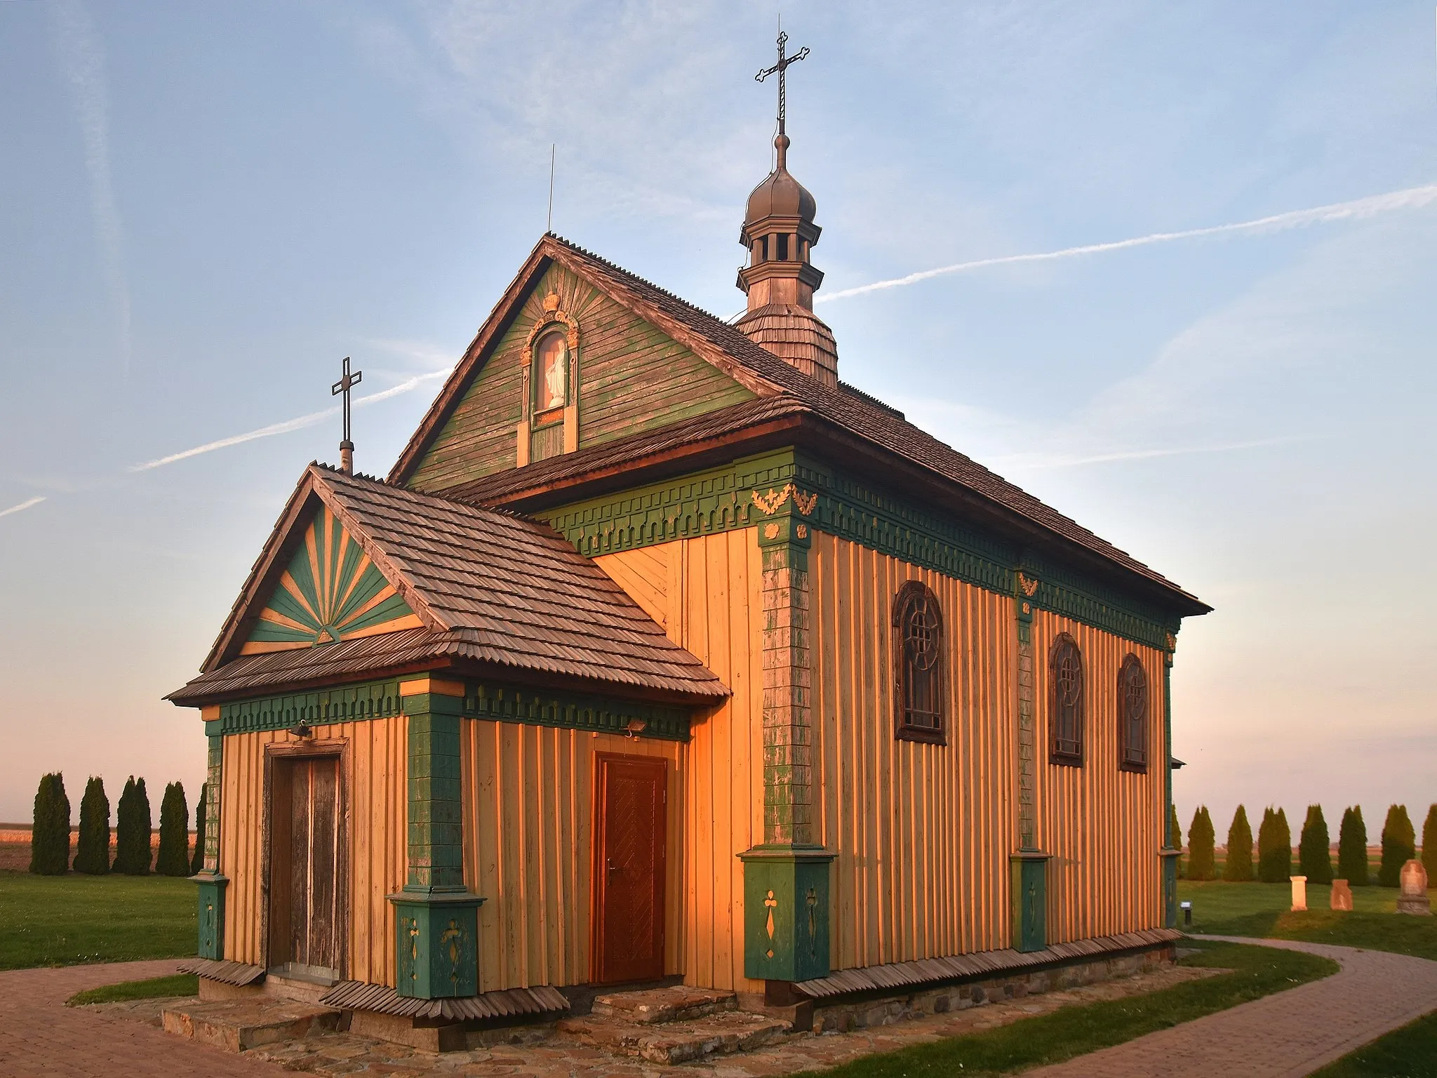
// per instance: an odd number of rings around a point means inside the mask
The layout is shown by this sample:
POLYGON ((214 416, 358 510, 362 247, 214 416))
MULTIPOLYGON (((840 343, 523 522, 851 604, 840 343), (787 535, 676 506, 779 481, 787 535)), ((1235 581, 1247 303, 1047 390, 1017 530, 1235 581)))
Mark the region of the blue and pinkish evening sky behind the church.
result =
MULTIPOLYGON (((338 457, 339 361, 384 474, 543 233, 552 145, 556 231, 743 308, 776 16, 0 0, 0 819, 52 769, 75 805, 91 773, 193 802, 198 719, 161 697, 338 457)), ((1420 825, 1430 0, 783 22, 841 375, 1216 608, 1173 673, 1184 826, 1361 803, 1375 839, 1394 801, 1420 825)))

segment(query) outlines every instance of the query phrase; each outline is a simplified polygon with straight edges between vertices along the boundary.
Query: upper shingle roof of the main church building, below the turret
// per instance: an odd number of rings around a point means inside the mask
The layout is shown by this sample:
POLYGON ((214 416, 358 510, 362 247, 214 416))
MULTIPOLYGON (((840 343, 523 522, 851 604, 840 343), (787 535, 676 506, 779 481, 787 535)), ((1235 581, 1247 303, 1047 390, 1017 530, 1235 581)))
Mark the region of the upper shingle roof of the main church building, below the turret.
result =
POLYGON ((718 428, 740 431, 770 423, 779 415, 808 417, 921 469, 940 483, 948 484, 948 489, 961 499, 981 502, 1000 528, 1006 525, 1019 533, 1040 535, 1059 548, 1076 548, 1081 555, 1095 556, 1109 568, 1132 573, 1181 614, 1206 614, 1211 609, 1196 595, 1184 591, 1125 550, 1119 550, 1026 490, 908 423, 902 413, 852 387, 839 384, 838 388, 831 388, 809 378, 756 345, 727 322, 553 234, 545 236, 535 247, 504 298, 456 367, 454 374, 450 375, 430 413, 391 470, 391 483, 404 483, 412 474, 425 448, 463 397, 470 378, 487 359, 490 344, 502 336, 509 319, 514 316, 525 289, 537 280, 537 276, 550 263, 565 266, 605 290, 615 300, 638 312, 741 381, 743 385, 759 394, 759 400, 687 420, 675 428, 634 436, 565 454, 562 463, 546 460, 514 471, 489 476, 463 487, 445 490, 447 496, 484 500, 500 492, 509 493, 525 484, 547 482, 549 471, 556 473, 555 477, 558 477, 559 473, 578 476, 586 467, 616 469, 624 464, 637 464, 668 446, 713 434, 718 428))

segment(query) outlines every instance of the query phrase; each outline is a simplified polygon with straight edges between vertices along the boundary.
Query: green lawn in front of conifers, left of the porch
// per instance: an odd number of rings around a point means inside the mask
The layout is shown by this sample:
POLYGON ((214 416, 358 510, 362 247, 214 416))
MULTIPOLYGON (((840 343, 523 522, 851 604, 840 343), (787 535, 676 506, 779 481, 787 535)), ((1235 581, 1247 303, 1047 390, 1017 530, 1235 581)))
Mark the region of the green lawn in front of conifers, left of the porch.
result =
POLYGON ((0 872, 0 969, 194 954, 195 910, 168 875, 0 872))

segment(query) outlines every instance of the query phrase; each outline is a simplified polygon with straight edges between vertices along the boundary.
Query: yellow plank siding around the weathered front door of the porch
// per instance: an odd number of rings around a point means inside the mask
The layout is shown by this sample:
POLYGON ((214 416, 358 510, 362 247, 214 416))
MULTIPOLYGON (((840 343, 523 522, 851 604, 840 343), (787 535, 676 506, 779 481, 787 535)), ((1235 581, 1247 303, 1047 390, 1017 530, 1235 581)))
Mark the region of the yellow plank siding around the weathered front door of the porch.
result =
POLYGON ((313 737, 289 730, 231 734, 224 739, 220 815, 220 868, 230 878, 226 895, 224 956, 266 960, 262 924, 264 897, 264 746, 323 745, 348 740, 341 780, 349 806, 349 969, 352 980, 394 985, 394 907, 385 898, 404 885, 407 722, 402 717, 313 727, 313 737))

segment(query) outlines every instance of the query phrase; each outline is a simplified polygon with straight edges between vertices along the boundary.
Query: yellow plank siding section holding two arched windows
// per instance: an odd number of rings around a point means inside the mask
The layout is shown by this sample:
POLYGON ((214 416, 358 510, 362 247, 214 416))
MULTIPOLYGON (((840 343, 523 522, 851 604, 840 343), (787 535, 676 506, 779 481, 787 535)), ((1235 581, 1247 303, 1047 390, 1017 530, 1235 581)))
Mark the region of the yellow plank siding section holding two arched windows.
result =
POLYGON ((1048 940, 1068 943, 1163 924, 1163 654, 1038 611, 1038 845, 1048 862, 1048 940), (1082 651, 1083 763, 1049 763, 1048 653, 1059 632, 1082 651), (1135 654, 1148 676, 1148 770, 1118 769, 1118 668, 1135 654))

